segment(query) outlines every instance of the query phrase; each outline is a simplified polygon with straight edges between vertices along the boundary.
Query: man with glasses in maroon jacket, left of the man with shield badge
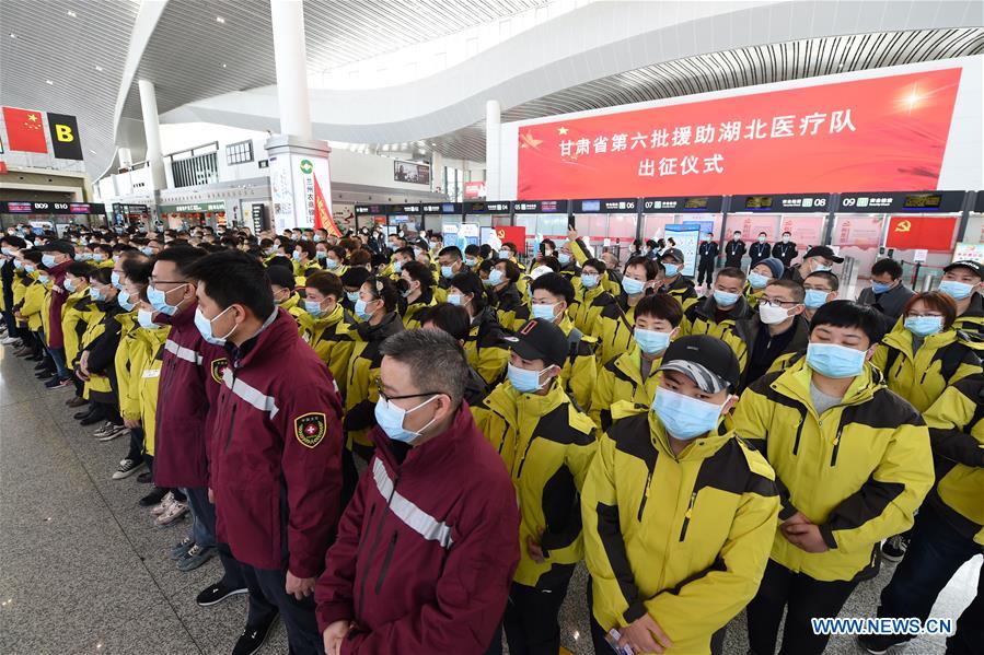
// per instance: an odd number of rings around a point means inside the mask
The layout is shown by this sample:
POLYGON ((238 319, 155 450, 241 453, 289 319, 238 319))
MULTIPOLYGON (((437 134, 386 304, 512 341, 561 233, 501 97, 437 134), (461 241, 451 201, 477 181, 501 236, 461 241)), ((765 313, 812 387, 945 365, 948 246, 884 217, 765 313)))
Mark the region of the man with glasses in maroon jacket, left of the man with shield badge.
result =
POLYGON ((195 327, 196 283, 188 276, 205 250, 190 246, 171 246, 154 258, 147 296, 157 311, 157 323, 171 325, 164 342, 161 379, 158 390, 155 454, 153 476, 158 487, 182 488, 194 516, 189 538, 174 549, 178 562, 187 557, 218 551, 222 578, 204 589, 196 601, 216 605, 246 592, 240 566, 224 545, 216 542, 216 510, 208 498, 209 394, 206 379, 211 375, 212 351, 195 327), (192 551, 195 549, 195 552, 192 551))

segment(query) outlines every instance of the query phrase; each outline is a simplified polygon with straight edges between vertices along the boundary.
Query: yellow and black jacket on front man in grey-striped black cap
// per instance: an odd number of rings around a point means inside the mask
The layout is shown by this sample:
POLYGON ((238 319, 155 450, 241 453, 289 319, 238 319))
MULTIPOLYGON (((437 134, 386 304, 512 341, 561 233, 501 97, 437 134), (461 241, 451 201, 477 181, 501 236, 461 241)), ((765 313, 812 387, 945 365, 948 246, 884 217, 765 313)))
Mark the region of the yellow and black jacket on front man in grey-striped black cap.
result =
POLYGON ((774 473, 723 426, 674 454, 647 409, 616 405, 581 491, 592 610, 605 631, 648 613, 673 642, 667 653, 710 653, 759 589, 774 473))

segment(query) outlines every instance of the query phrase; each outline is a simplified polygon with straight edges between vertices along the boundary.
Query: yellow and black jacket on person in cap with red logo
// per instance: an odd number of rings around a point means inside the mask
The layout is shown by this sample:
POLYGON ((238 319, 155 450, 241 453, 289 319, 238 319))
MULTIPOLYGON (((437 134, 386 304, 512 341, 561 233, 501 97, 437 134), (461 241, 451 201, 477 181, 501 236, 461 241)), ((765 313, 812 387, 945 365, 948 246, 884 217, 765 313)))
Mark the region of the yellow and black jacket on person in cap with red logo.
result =
POLYGON ((553 588, 583 558, 580 490, 598 443, 594 424, 556 383, 539 396, 520 394, 506 381, 472 413, 505 460, 519 496, 520 562, 513 580, 553 588), (531 536, 543 547, 542 564, 526 550, 531 536))

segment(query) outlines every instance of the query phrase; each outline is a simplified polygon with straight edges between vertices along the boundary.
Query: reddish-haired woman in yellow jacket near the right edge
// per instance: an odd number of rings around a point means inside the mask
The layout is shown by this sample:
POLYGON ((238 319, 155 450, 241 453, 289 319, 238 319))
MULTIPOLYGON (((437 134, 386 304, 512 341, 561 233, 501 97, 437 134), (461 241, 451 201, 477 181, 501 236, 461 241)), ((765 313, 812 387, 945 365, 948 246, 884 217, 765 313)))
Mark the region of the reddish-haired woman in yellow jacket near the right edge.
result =
POLYGON ((926 411, 948 386, 981 372, 977 351, 953 328, 957 303, 938 291, 917 293, 875 350, 871 363, 889 388, 926 411))

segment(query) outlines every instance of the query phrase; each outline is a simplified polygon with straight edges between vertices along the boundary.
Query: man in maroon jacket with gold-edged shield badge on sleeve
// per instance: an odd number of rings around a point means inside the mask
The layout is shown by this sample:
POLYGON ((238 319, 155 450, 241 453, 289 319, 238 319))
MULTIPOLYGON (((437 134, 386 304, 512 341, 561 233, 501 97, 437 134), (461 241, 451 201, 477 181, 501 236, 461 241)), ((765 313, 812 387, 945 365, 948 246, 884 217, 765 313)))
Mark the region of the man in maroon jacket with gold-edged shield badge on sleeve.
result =
POLYGON ((278 612, 291 653, 322 653, 313 592, 341 513, 341 400, 255 258, 216 253, 188 274, 198 282, 198 331, 228 351, 210 488, 218 537, 250 588, 233 655, 259 648, 278 612))

